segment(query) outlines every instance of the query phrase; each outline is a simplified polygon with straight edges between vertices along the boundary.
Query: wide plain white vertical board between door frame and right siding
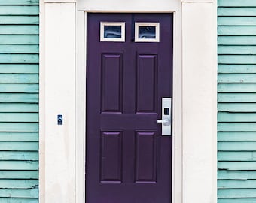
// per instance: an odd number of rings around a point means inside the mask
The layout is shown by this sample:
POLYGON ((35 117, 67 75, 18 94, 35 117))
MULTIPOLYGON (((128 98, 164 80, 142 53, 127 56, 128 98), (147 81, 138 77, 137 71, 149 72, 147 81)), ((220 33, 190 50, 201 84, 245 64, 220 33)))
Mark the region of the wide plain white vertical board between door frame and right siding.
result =
POLYGON ((217 201, 215 2, 182 2, 183 203, 217 201))

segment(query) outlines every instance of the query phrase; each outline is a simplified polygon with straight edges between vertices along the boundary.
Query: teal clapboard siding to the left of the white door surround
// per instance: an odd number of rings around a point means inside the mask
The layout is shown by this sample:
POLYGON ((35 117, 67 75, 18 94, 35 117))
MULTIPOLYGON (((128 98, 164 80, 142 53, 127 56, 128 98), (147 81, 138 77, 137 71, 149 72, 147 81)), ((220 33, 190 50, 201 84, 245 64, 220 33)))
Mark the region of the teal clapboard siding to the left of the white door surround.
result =
POLYGON ((0 0, 0 202, 38 202, 38 0, 0 0))

